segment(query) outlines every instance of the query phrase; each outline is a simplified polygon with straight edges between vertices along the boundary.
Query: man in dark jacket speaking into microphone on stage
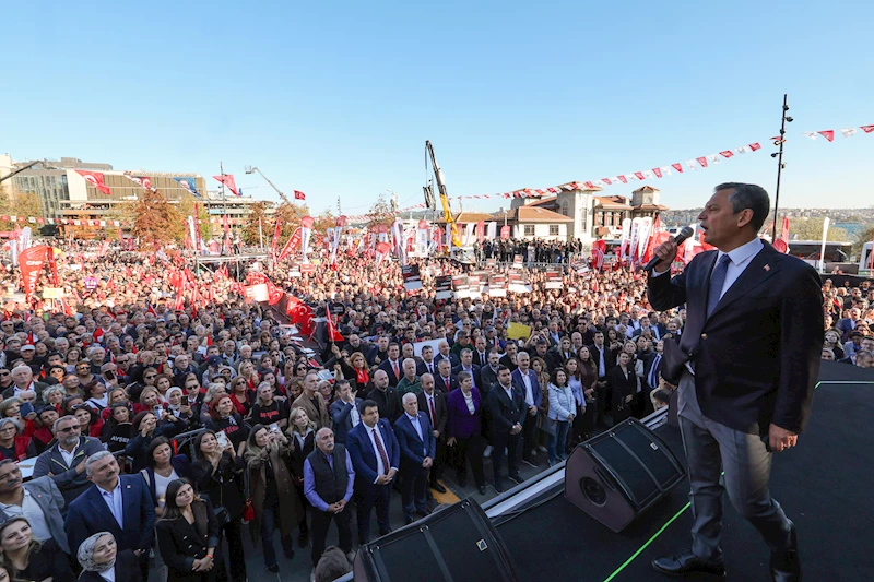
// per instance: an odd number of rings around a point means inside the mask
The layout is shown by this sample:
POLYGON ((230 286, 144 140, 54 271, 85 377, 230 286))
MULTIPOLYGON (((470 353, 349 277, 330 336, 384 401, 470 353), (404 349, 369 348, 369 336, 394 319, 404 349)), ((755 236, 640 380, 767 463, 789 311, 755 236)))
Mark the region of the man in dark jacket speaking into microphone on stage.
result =
POLYGON ((649 276, 650 304, 657 310, 687 306, 678 346, 665 344, 663 373, 680 376, 695 520, 690 551, 653 560, 663 573, 724 573, 727 490, 771 549, 771 580, 801 580, 795 526, 771 498, 768 479, 771 453, 793 447, 810 418, 823 296, 812 266, 758 238, 768 209, 760 187, 720 185, 698 216, 718 250, 698 254, 672 278, 676 242, 656 249, 661 261, 649 276))

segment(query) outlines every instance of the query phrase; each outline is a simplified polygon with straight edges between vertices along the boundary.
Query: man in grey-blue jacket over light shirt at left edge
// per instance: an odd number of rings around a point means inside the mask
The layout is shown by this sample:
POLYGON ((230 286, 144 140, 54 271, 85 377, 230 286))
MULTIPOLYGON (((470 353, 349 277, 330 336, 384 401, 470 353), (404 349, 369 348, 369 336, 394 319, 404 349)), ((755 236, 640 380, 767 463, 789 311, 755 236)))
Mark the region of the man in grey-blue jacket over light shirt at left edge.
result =
POLYGON ((63 496, 51 477, 22 482, 21 468, 11 459, 0 461, 0 522, 24 515, 39 542, 54 538, 70 554, 63 531, 63 496))

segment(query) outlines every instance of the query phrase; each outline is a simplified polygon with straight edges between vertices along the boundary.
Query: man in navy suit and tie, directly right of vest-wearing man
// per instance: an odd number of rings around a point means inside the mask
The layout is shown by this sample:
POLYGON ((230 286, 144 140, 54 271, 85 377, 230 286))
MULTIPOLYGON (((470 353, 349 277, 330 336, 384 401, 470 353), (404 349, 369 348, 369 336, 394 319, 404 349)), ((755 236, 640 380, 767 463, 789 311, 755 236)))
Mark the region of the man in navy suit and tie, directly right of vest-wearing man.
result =
POLYGON ((376 508, 379 535, 391 532, 389 502, 391 484, 401 464, 401 448, 391 425, 379 418, 379 406, 371 400, 362 403, 362 423, 346 435, 346 450, 355 467, 358 543, 370 541, 370 512, 376 508))

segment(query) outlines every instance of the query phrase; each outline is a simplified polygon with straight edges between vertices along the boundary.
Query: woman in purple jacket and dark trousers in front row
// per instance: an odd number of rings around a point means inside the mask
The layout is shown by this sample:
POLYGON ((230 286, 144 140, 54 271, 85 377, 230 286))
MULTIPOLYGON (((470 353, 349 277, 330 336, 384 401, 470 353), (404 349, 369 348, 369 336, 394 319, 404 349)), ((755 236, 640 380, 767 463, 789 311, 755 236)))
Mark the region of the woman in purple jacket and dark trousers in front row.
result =
POLYGON ((485 495, 485 472, 483 471, 482 438, 483 401, 480 391, 473 388, 471 373, 458 373, 458 390, 449 393, 447 399, 447 446, 451 451, 451 463, 458 475, 458 484, 468 484, 468 463, 473 471, 473 480, 480 495, 485 495))

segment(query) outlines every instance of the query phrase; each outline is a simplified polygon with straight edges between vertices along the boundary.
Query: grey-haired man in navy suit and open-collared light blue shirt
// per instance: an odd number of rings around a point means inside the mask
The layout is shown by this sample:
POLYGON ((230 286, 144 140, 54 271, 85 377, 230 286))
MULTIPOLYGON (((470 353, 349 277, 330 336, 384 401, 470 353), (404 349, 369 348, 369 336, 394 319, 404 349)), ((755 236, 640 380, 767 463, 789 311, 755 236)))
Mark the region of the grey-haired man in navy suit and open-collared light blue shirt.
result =
POLYGON ((140 559, 143 580, 149 575, 149 550, 155 525, 155 506, 149 486, 140 475, 120 475, 118 461, 109 451, 91 455, 85 472, 94 486, 70 503, 67 539, 76 551, 87 537, 109 532, 118 550, 132 550, 140 559))

